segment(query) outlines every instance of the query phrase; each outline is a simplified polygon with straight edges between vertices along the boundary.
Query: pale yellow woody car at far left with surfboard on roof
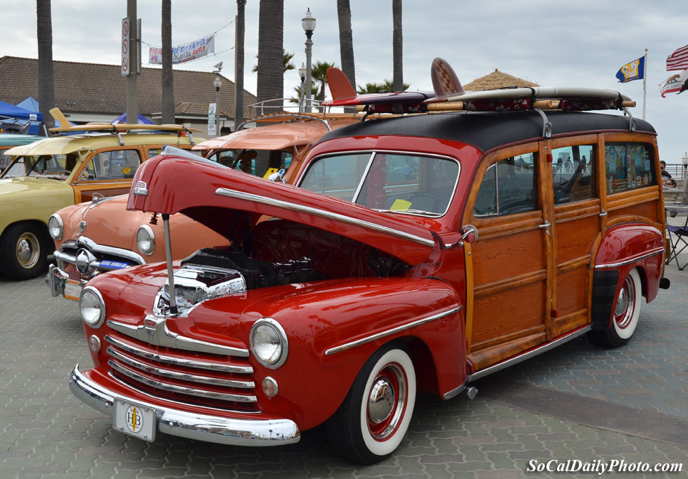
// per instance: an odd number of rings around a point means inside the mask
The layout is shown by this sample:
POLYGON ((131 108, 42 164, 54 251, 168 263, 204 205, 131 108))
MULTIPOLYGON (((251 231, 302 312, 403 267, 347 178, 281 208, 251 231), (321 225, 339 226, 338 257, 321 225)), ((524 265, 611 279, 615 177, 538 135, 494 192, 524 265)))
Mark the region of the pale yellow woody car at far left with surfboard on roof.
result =
POLYGON ((8 279, 46 270, 53 212, 128 193, 139 165, 163 146, 194 145, 191 132, 179 125, 99 123, 51 131, 69 134, 4 152, 11 163, 0 175, 0 273, 8 279))

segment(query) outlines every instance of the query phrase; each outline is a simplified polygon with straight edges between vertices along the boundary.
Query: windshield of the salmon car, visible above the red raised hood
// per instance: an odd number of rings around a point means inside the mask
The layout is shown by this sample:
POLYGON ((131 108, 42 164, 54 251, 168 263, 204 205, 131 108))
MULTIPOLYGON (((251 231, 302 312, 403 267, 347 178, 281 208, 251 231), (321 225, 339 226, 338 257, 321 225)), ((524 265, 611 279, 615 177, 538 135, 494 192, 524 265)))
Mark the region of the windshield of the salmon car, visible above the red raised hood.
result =
POLYGON ((208 159, 233 170, 268 178, 272 173, 289 168, 292 153, 285 150, 218 150, 208 156, 208 159))

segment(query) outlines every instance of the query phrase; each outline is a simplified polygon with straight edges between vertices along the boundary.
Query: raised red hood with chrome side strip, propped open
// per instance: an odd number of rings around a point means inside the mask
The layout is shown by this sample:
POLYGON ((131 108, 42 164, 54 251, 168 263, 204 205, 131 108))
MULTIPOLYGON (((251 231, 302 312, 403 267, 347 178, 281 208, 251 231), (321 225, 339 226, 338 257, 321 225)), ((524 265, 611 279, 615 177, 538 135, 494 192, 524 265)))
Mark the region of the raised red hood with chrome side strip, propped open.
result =
POLYGON ((233 171, 210 161, 161 155, 137 170, 128 210, 184 213, 232 239, 261 215, 299 222, 356 239, 408 264, 439 247, 425 227, 344 200, 233 171))

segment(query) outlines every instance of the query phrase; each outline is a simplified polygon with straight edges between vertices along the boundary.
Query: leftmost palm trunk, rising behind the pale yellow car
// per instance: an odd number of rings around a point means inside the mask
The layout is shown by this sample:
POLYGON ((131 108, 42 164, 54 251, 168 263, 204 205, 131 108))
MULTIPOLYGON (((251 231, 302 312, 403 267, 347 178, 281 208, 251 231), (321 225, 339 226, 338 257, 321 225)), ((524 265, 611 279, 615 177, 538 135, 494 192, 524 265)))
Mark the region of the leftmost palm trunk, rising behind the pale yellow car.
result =
POLYGON ((36 0, 36 36, 38 37, 38 109, 41 110, 46 127, 51 128, 55 125, 50 114, 50 110, 55 107, 51 0, 36 0))

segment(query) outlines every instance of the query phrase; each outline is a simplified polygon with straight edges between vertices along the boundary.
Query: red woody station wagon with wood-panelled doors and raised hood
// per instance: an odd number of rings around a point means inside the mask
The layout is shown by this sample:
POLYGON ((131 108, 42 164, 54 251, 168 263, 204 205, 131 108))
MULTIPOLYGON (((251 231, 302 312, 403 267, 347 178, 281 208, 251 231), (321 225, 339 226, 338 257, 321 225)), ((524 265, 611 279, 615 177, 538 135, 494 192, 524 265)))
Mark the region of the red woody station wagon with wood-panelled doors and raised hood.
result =
MULTIPOLYGON (((470 98, 455 107, 514 104, 470 98)), ((417 392, 472 397, 473 380, 583 334, 624 345, 669 286, 655 130, 547 100, 352 124, 298 186, 145 162, 129 209, 181 212, 232 246, 92 279, 94 365, 73 393, 146 441, 275 446, 324 424, 337 453, 373 463, 417 392)))

